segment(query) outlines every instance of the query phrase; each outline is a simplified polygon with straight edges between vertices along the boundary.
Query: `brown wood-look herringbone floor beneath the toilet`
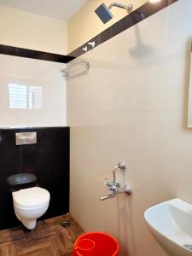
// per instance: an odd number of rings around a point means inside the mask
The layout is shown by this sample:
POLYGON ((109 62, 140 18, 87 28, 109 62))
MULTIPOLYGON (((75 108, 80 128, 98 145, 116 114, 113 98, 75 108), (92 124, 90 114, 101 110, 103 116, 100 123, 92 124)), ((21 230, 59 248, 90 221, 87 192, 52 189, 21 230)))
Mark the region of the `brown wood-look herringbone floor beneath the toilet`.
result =
POLYGON ((70 216, 60 216, 38 221, 34 230, 23 227, 0 230, 0 256, 71 256, 73 242, 83 230, 70 216), (68 228, 61 221, 69 220, 68 228))

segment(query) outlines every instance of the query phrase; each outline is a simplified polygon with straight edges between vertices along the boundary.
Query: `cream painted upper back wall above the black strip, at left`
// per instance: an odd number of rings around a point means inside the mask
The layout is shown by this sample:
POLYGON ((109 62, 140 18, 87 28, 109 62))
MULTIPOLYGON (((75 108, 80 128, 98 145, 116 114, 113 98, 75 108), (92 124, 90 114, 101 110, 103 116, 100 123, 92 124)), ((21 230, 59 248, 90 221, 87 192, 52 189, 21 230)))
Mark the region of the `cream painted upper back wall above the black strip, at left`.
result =
POLYGON ((0 5, 0 44, 67 54, 67 23, 0 5))

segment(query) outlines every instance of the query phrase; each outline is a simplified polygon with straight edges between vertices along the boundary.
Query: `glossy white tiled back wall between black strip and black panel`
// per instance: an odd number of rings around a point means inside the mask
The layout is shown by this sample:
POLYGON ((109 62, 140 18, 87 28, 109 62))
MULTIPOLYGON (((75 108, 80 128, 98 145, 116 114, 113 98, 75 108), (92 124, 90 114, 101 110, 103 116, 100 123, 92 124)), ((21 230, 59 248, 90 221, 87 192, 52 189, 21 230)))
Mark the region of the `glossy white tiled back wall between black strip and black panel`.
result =
POLYGON ((0 55, 0 127, 65 126, 66 64, 0 55), (42 87, 42 108, 9 108, 9 84, 42 87))

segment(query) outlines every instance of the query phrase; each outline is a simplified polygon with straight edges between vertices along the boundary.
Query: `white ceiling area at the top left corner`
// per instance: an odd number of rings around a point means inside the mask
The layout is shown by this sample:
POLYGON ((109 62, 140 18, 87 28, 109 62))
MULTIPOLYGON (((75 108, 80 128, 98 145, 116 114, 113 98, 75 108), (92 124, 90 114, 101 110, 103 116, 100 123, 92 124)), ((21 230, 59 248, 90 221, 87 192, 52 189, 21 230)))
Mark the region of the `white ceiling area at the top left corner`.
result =
POLYGON ((87 0, 0 0, 0 5, 57 20, 70 20, 87 0))

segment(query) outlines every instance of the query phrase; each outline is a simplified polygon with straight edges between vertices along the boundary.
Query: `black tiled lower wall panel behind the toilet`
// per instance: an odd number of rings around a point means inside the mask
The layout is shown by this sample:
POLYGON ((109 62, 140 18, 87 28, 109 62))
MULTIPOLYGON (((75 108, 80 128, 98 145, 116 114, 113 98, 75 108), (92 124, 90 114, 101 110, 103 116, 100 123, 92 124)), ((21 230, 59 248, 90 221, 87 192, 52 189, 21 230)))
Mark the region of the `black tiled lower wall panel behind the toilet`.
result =
POLYGON ((17 224, 7 177, 33 173, 48 189, 50 204, 42 218, 69 212, 69 127, 0 129, 0 229, 17 224), (15 133, 37 131, 37 144, 15 145, 15 133))

